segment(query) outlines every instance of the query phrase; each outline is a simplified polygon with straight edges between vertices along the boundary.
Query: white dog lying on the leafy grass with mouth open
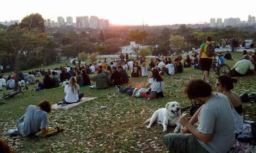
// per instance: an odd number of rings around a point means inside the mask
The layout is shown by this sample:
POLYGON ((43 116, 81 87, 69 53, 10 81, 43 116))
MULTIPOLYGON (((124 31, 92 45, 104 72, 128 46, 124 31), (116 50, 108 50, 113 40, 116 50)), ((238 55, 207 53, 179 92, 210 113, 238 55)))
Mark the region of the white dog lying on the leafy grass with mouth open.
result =
POLYGON ((168 102, 166 104, 165 108, 159 109, 156 112, 153 113, 152 117, 149 118, 145 123, 149 123, 148 129, 151 127, 151 125, 156 122, 157 124, 163 125, 163 132, 167 131, 168 125, 177 125, 174 132, 177 133, 178 130, 181 128, 181 124, 178 122, 178 119, 181 115, 181 109, 178 105, 178 102, 168 102))

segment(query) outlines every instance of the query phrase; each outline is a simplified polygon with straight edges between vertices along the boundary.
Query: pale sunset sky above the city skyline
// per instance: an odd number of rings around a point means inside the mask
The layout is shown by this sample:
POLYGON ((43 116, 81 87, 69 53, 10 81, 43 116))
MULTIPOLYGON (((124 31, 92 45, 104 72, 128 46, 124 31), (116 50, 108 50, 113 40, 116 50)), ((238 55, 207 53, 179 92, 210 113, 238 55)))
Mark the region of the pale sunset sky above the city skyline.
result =
POLYGON ((247 21, 255 16, 255 0, 13 0, 0 2, 0 21, 22 20, 31 13, 57 21, 57 16, 98 16, 110 24, 148 25, 187 24, 210 22, 210 18, 239 17, 247 21))

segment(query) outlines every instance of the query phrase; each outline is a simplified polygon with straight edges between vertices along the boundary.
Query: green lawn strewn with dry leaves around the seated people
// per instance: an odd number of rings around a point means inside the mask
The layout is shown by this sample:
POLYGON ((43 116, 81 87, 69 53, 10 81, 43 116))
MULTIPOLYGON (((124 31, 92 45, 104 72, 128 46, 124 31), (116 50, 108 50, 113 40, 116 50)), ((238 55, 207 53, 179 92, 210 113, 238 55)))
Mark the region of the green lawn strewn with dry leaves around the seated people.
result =
MULTIPOLYGON (((232 55, 235 60, 226 61, 230 67, 242 58, 241 52, 232 55)), ((98 98, 68 110, 53 110, 48 115, 49 126, 61 126, 64 132, 49 138, 9 137, 7 130, 15 128, 16 121, 29 104, 37 105, 45 99, 57 103, 64 96, 62 87, 38 92, 28 90, 0 101, 0 138, 6 140, 15 152, 166 152, 162 137, 167 132, 161 132, 161 125, 146 129, 143 122, 169 101, 177 101, 182 107, 191 104, 183 94, 183 87, 187 80, 201 78, 200 74, 199 70, 185 68, 182 74, 164 75, 165 97, 157 100, 132 98, 118 93, 115 87, 101 90, 83 88, 81 92, 86 97, 98 98), (100 109, 103 105, 107 105, 107 109, 100 109)), ((130 78, 130 83, 125 86, 144 85, 146 81, 147 77, 130 78)), ((215 82, 216 75, 211 73, 210 84, 213 88, 215 82)), ((255 92, 255 85, 255 75, 240 77, 234 91, 238 94, 255 92)), ((31 89, 36 85, 28 87, 31 89)), ((0 94, 6 92, 4 89, 0 94)), ((255 104, 244 104, 246 120, 255 121, 254 107, 255 104)), ((169 128, 168 132, 173 130, 169 128)))

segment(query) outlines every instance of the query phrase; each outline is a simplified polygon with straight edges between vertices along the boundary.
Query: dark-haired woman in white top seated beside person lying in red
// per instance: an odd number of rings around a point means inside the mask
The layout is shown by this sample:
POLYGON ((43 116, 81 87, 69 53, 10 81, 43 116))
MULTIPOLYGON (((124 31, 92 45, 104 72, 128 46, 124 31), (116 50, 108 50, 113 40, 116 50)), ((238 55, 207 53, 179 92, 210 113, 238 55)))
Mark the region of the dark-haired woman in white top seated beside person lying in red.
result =
POLYGON ((156 98, 164 97, 164 79, 159 75, 158 68, 152 68, 151 72, 152 74, 149 75, 146 86, 150 86, 150 92, 156 92, 156 98))

